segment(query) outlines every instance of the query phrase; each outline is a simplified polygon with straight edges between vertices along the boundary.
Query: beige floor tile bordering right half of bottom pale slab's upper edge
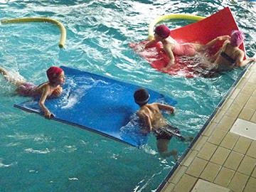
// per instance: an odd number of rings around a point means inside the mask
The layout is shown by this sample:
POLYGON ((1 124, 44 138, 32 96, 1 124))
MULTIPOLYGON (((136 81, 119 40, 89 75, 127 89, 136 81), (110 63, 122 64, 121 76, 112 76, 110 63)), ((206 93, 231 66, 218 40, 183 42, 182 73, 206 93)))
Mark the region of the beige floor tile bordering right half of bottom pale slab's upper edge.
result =
POLYGON ((231 178, 233 178, 234 174, 235 174, 234 170, 222 167, 220 169, 219 174, 215 178, 214 183, 223 187, 227 187, 231 181, 231 178))

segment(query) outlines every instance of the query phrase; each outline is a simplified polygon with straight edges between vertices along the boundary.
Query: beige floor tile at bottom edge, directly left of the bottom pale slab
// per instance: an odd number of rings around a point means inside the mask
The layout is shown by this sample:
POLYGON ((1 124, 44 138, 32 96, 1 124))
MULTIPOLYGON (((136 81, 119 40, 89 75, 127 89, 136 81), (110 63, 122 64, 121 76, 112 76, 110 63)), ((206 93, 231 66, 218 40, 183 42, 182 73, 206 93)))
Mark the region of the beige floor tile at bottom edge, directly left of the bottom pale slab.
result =
POLYGON ((194 184, 196 183, 197 178, 193 176, 189 176, 187 174, 183 175, 181 181, 175 186, 173 192, 189 192, 191 188, 193 188, 194 184))

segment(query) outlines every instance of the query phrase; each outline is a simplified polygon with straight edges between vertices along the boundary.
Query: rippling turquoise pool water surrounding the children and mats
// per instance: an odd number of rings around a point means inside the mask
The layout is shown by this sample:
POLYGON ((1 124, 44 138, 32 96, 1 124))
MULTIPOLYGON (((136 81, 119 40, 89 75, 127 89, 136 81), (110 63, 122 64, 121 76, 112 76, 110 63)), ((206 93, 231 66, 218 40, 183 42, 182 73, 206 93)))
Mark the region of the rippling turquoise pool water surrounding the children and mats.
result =
MULTIPOLYGON (((151 68, 128 45, 146 39, 149 23, 159 15, 210 16, 225 6, 245 33, 252 57, 252 1, 1 1, 1 19, 53 18, 65 26, 67 42, 58 48, 60 31, 50 23, 2 25, 0 65, 37 84, 47 80, 51 65, 65 65, 148 87, 178 101, 168 119, 183 135, 195 136, 242 69, 212 79, 171 76, 151 68)), ((136 149, 18 110, 13 105, 28 98, 12 95, 14 89, 0 77, 0 191, 155 191, 175 164, 159 156, 153 136, 136 149)), ((174 138, 170 148, 181 155, 187 146, 174 138)))

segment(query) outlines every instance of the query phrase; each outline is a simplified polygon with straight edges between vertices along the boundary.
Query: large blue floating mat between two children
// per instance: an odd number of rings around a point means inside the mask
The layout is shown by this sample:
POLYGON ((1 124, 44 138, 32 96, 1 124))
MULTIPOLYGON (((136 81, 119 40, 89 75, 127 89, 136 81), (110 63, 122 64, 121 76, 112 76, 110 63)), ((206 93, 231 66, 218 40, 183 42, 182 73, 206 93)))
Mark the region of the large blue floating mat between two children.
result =
MULTIPOLYGON (((132 146, 146 144, 149 135, 140 132, 134 102, 134 90, 138 85, 114 80, 112 78, 87 73, 61 66, 65 72, 63 94, 45 105, 55 117, 52 119, 87 129, 105 137, 116 139, 132 146)), ((176 105, 176 101, 159 92, 149 90, 150 102, 176 105)), ((14 105, 21 110, 43 115, 37 99, 14 105)))

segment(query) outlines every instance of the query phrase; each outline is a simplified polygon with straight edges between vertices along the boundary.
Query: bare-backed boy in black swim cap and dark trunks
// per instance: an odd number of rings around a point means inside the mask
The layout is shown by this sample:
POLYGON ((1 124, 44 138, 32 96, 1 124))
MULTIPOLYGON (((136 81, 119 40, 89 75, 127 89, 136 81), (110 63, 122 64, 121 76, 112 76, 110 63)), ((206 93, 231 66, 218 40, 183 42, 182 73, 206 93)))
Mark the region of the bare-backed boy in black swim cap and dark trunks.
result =
POLYGON ((139 88, 134 92, 134 101, 139 105, 137 116, 144 124, 142 132, 152 132, 156 136, 156 145, 161 156, 174 156, 177 160, 178 155, 176 149, 172 151, 168 150, 169 142, 173 136, 178 137, 183 142, 186 139, 180 134, 178 128, 171 126, 167 122, 160 112, 160 110, 164 110, 174 113, 174 107, 159 102, 148 104, 149 97, 149 93, 144 88, 139 88))

